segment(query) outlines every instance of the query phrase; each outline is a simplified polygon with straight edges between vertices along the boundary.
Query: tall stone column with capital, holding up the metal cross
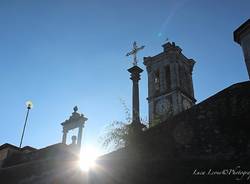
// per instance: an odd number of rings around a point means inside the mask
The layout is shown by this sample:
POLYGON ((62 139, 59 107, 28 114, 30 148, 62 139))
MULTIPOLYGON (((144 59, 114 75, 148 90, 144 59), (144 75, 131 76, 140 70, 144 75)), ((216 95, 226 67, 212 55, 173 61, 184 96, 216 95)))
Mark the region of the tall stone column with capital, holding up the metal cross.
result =
POLYGON ((132 106, 132 123, 133 127, 136 129, 141 130, 144 125, 141 124, 140 121, 140 107, 139 107, 139 80, 140 80, 140 73, 143 70, 138 66, 133 66, 132 68, 128 69, 131 73, 130 79, 133 81, 133 106, 132 106))

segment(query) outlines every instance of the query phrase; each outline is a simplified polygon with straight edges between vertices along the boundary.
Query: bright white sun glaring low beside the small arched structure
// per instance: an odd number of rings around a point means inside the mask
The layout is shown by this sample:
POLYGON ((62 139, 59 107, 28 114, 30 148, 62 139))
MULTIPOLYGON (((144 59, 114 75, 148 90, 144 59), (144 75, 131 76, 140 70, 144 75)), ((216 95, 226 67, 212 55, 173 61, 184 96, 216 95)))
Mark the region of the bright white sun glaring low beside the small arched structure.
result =
POLYGON ((82 171, 89 171, 91 168, 94 168, 99 155, 98 150, 92 147, 82 150, 79 160, 80 169, 82 171))

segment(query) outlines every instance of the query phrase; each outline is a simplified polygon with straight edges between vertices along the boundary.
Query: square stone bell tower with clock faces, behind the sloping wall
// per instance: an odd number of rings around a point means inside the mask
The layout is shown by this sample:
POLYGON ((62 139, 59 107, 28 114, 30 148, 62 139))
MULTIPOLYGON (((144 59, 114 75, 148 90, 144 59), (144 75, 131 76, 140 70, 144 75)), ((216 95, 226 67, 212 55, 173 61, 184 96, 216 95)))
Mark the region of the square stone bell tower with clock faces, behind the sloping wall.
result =
POLYGON ((174 42, 162 47, 162 53, 144 57, 148 73, 150 127, 190 108, 196 102, 192 80, 195 61, 186 58, 174 42))

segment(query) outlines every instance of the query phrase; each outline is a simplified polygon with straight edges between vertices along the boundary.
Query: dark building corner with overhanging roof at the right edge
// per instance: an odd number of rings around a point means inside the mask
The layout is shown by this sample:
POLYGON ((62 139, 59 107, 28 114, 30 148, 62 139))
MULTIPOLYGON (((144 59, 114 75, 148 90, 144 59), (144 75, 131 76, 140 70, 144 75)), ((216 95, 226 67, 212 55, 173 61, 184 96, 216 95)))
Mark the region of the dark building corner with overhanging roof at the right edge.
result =
POLYGON ((234 41, 242 47, 250 79, 250 19, 234 31, 234 41))

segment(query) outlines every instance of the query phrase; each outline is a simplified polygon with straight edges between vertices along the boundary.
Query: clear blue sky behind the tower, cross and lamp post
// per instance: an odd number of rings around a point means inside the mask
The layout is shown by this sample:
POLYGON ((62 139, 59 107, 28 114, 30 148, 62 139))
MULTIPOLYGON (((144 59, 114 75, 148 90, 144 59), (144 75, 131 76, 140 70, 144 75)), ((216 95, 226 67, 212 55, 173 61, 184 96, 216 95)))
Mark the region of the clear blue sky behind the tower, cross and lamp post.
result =
POLYGON ((25 101, 32 109, 23 145, 61 141, 61 122, 77 105, 88 121, 83 144, 98 146, 105 125, 131 108, 125 57, 133 41, 145 45, 139 66, 142 118, 147 118, 144 56, 166 38, 197 63, 198 102, 248 80, 233 31, 250 17, 248 0, 0 0, 0 144, 19 145, 25 101))

